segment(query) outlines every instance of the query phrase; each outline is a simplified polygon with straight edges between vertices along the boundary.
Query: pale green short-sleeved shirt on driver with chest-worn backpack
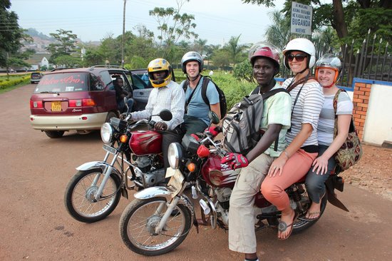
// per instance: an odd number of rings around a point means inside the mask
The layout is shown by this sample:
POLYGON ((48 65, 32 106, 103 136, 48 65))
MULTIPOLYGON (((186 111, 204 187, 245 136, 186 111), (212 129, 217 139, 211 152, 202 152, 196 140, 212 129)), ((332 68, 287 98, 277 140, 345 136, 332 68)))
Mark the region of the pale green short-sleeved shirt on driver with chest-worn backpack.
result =
MULTIPOLYGON (((272 90, 276 88, 282 88, 277 83, 272 90)), ((292 97, 289 93, 280 92, 274 96, 267 98, 264 101, 262 122, 260 123, 260 129, 267 131, 269 124, 281 124, 282 130, 279 132, 279 141, 277 151, 274 150, 275 141, 272 145, 264 151, 271 157, 279 157, 282 151, 287 147, 286 133, 290 128, 292 118, 292 97)))

